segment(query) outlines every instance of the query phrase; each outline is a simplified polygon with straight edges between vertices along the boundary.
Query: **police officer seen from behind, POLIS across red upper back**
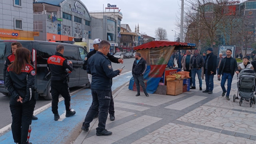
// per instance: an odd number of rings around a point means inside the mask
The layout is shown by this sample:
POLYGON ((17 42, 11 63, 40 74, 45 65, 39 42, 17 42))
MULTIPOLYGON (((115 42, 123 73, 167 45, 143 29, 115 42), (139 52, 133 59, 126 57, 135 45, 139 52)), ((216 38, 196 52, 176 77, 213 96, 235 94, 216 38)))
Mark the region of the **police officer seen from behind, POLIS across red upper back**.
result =
POLYGON ((47 60, 47 68, 51 71, 51 92, 52 92, 52 113, 54 120, 57 121, 60 116, 58 113, 59 95, 64 98, 66 107, 66 117, 74 116, 76 111, 71 111, 70 94, 68 88, 69 74, 73 70, 72 61, 68 61, 63 56, 64 46, 59 44, 56 47, 56 52, 47 60))

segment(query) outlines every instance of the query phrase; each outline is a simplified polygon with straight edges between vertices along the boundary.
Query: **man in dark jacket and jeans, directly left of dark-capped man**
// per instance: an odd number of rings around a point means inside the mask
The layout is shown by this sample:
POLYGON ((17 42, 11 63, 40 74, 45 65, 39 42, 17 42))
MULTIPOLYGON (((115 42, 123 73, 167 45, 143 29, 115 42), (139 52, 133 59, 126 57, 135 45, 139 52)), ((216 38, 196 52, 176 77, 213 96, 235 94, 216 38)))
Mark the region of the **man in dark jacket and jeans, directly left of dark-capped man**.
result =
POLYGON ((203 56, 199 55, 198 50, 194 51, 194 55, 190 60, 190 68, 192 73, 192 87, 190 89, 196 89, 196 74, 199 80, 199 90, 202 91, 202 67, 204 65, 203 56))

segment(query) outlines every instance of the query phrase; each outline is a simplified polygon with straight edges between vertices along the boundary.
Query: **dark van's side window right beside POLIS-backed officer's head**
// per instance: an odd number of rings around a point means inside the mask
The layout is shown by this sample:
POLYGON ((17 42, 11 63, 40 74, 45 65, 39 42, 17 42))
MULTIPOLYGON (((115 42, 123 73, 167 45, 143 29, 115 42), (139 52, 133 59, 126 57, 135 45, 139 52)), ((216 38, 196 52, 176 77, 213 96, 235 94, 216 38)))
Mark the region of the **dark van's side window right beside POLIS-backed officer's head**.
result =
POLYGON ((70 46, 70 45, 64 45, 64 54, 63 56, 67 58, 68 60, 79 60, 77 47, 76 46, 70 46))

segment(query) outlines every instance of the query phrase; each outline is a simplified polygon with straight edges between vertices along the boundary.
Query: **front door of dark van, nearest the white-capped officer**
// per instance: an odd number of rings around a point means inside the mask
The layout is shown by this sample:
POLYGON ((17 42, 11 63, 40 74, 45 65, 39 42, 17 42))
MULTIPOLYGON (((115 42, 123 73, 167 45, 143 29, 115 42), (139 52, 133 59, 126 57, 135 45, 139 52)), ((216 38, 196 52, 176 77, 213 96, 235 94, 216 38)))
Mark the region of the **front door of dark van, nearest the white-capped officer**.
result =
POLYGON ((79 84, 87 84, 89 83, 87 71, 83 69, 84 60, 86 58, 87 52, 84 47, 78 47, 79 49, 79 60, 80 62, 80 77, 79 77, 79 84))

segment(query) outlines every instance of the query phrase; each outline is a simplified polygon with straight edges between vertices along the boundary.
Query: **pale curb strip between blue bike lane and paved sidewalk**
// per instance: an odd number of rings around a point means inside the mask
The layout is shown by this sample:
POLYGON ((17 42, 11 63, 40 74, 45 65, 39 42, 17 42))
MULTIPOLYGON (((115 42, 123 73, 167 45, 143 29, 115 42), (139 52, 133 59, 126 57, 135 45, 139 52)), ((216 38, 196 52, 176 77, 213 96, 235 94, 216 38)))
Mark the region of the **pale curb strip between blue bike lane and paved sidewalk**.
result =
MULTIPOLYGON (((115 99, 115 97, 118 95, 118 93, 120 93, 120 92, 124 89, 124 87, 127 86, 128 84, 129 84, 129 82, 126 83, 126 84, 124 84, 121 88, 119 88, 119 89, 113 94, 113 99, 115 99)), ((86 137, 87 134, 91 131, 92 127, 94 126, 94 124, 95 124, 95 122, 96 122, 97 120, 98 120, 98 118, 93 119, 93 121, 91 122, 92 126, 89 127, 89 131, 88 131, 88 132, 82 131, 82 132, 79 134, 79 136, 76 138, 76 140, 73 142, 73 144, 82 144, 83 141, 84 141, 84 139, 85 139, 85 137, 86 137)))

